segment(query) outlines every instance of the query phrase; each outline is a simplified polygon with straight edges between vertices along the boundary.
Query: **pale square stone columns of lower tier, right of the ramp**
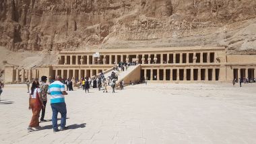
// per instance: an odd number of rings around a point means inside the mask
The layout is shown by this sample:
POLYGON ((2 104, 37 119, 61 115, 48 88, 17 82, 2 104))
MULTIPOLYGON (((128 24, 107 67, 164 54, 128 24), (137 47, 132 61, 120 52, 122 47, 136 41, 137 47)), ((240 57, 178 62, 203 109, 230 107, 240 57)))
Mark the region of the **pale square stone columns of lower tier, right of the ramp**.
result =
MULTIPOLYGON (((153 80, 153 78, 154 78, 154 75, 153 75, 153 70, 154 69, 150 69, 150 80, 153 80)), ((163 70, 163 81, 166 81, 166 69, 162 69, 163 70)), ((169 69, 170 70, 170 81, 172 80, 172 73, 173 73, 173 70, 174 69, 169 69)), ((176 69, 177 70, 177 74, 176 74, 176 76, 177 76, 177 81, 179 81, 180 79, 181 79, 181 77, 179 77, 180 75, 179 75, 179 70, 180 69, 176 69)), ((187 81, 187 79, 186 79, 186 77, 188 76, 187 75, 187 69, 183 69, 184 71, 183 71, 183 81, 187 81)), ((194 73, 193 73, 193 70, 194 69, 190 69, 191 71, 190 71, 190 80, 189 81, 193 81, 193 79, 194 79, 194 73)), ((201 79, 201 69, 197 69, 198 71, 197 71, 197 80, 198 81, 201 81, 202 79, 201 79)), ((208 70, 209 69, 205 69, 205 81, 207 81, 208 80, 208 70)), ((219 69, 220 70, 220 69, 219 69)), ((156 80, 157 81, 159 81, 160 80, 160 69, 156 69, 156 80)), ((144 69, 144 77, 147 77, 147 69, 144 69)), ((220 77, 220 75, 219 75, 219 77, 220 77)), ((216 69, 212 69, 212 81, 216 81, 216 69)))

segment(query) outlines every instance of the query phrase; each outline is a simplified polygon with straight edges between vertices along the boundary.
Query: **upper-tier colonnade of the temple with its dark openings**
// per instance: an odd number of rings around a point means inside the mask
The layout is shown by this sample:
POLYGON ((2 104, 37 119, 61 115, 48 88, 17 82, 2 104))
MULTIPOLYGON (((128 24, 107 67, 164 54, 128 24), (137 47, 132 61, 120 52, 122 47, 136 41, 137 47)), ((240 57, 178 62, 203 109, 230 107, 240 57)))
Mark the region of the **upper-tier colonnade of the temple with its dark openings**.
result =
POLYGON ((128 55, 60 55, 59 65, 111 65, 119 62, 140 64, 166 64, 166 63, 214 63, 214 52, 172 52, 128 55))

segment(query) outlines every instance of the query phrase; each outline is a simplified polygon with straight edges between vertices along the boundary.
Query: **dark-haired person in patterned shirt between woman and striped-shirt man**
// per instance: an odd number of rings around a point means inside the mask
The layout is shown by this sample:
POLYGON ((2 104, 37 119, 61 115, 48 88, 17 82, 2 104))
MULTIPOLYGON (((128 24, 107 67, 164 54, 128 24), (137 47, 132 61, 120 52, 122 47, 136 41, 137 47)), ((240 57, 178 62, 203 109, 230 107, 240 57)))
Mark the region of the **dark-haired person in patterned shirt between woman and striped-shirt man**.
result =
POLYGON ((47 81, 46 76, 42 76, 41 81, 42 83, 40 84, 40 92, 41 92, 42 104, 44 105, 44 107, 42 107, 40 122, 46 122, 46 120, 44 120, 44 114, 45 114, 45 108, 47 103, 47 91, 48 91, 49 85, 46 84, 46 81, 47 81))

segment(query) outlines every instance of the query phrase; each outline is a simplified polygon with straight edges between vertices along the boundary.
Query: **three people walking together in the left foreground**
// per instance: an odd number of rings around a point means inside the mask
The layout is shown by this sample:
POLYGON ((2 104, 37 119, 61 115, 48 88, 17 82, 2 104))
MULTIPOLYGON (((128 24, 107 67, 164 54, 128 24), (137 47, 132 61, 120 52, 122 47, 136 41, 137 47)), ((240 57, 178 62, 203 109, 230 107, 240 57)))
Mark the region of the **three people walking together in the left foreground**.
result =
MULTIPOLYGON (((67 108, 65 104, 64 96, 67 95, 65 92, 65 85, 61 82, 61 76, 57 76, 55 81, 50 85, 46 84, 47 77, 41 77, 41 83, 38 79, 34 79, 29 94, 29 106, 28 109, 32 110, 32 118, 28 126, 28 131, 36 131, 41 129, 39 126, 40 111, 42 115, 40 122, 45 122, 44 114, 47 103, 47 94, 51 95, 51 108, 53 111, 52 122, 53 122, 53 131, 63 131, 67 129, 65 127, 66 118, 67 118, 67 108), (57 125, 57 115, 61 113, 61 127, 58 129, 57 125)), ((27 84, 29 87, 29 83, 27 84)))

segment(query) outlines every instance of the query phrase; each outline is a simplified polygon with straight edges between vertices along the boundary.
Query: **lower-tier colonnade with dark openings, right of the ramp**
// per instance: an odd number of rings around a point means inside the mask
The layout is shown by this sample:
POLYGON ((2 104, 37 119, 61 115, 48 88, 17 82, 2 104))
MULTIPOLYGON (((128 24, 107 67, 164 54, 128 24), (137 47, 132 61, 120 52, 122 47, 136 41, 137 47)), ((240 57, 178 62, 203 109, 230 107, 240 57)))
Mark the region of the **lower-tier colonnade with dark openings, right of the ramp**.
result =
POLYGON ((218 81, 220 69, 202 68, 163 68, 141 69, 143 78, 150 81, 218 81))

